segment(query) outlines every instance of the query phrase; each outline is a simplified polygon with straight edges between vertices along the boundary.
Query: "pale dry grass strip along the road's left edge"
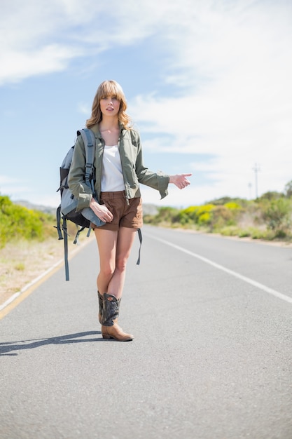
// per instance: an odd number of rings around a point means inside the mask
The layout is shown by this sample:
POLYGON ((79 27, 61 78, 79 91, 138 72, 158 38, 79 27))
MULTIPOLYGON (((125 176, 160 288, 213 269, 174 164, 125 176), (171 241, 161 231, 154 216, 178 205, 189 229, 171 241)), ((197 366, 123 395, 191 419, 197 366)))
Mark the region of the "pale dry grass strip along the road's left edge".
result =
MULTIPOLYGON (((92 239, 95 239, 94 234, 87 238, 83 232, 83 236, 79 238, 80 245, 74 245, 70 238, 69 256, 92 239)), ((19 241, 6 245, 0 250, 0 305, 63 260, 64 241, 58 241, 57 238, 48 238, 43 243, 19 241)))

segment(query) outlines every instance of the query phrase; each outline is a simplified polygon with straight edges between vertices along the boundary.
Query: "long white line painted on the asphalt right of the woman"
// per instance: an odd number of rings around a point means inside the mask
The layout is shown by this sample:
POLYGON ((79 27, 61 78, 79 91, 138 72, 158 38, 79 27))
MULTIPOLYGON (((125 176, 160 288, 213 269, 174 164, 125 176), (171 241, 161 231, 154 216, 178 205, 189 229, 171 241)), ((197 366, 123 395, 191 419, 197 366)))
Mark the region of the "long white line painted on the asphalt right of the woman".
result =
POLYGON ((148 234, 147 234, 147 236, 149 236, 150 238, 156 239, 156 241, 160 241, 161 243, 169 245, 170 247, 176 248, 176 250, 180 250, 181 252, 184 252, 187 255, 196 257, 197 259, 200 259, 200 261, 206 262, 206 264, 214 266, 216 269, 219 269, 221 271, 225 271, 225 273, 228 273, 231 276, 235 276, 235 278, 241 279, 242 281, 249 283, 256 288, 260 288, 260 290, 268 292, 270 295, 277 297, 278 299, 284 300, 285 302, 292 304, 292 297, 286 296, 279 291, 273 290, 272 288, 269 288, 266 285, 263 285, 263 283, 253 281, 253 279, 251 279, 251 278, 247 278, 246 276, 243 276, 242 274, 237 273, 236 271, 230 270, 223 265, 217 264, 216 262, 211 261, 211 259, 207 259, 207 257, 197 255, 197 253, 190 252, 190 250, 186 250, 186 248, 180 247, 179 245, 173 244, 169 241, 165 241, 165 239, 156 238, 155 236, 148 235, 148 234))

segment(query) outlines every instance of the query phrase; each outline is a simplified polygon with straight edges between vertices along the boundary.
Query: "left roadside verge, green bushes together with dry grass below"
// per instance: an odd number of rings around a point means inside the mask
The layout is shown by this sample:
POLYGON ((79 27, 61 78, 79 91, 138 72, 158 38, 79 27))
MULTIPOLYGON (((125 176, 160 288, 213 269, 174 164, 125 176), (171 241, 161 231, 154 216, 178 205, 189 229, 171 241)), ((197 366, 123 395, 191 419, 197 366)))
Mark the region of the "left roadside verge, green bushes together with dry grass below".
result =
MULTIPOLYGON (((64 241, 58 240, 55 225, 53 213, 26 208, 0 195, 0 306, 64 259, 64 241)), ((78 251, 75 224, 68 224, 68 231, 69 255, 73 255, 78 251)), ((89 242, 86 234, 79 242, 89 242)))

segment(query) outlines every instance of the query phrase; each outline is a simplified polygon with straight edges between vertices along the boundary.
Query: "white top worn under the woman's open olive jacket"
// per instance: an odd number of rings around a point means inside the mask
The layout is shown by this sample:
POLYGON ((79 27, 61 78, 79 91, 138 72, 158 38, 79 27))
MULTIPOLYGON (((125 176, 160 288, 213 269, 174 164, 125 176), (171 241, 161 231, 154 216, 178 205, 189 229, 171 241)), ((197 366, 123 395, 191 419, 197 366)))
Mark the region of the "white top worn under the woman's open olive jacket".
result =
POLYGON ((102 158, 102 192, 125 191, 118 145, 105 145, 102 158))

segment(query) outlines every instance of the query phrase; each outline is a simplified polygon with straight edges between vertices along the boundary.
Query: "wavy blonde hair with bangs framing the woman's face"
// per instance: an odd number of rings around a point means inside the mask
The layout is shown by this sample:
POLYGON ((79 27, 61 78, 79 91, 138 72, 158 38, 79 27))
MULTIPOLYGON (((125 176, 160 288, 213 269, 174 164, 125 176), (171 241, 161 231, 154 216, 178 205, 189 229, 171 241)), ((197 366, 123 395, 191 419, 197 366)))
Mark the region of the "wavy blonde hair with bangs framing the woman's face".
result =
POLYGON ((118 101, 120 101, 120 109, 118 112, 118 121, 126 128, 130 130, 131 119, 125 112, 127 109, 127 101, 125 98, 125 94, 123 92, 123 88, 116 81, 104 81, 100 84, 99 88, 97 88, 97 93, 92 102, 92 112, 90 119, 87 119, 86 126, 87 128, 92 127, 96 123, 102 121, 102 112, 100 109, 100 100, 102 97, 107 96, 116 96, 118 101))

